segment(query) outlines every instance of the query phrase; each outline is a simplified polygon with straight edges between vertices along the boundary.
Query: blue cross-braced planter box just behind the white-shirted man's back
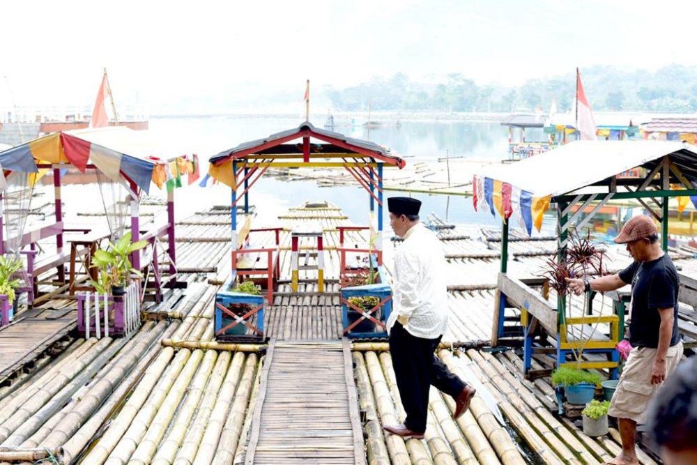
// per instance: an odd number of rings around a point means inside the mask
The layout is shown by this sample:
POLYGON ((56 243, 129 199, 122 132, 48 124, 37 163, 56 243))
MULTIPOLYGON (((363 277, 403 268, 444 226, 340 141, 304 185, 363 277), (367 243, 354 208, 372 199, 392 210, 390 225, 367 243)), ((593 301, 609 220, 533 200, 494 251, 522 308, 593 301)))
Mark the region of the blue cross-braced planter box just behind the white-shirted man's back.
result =
MULTIPOLYGON (((351 326, 355 321, 362 317, 362 314, 353 310, 353 308, 346 305, 346 300, 350 297, 376 297, 378 302, 381 302, 385 298, 390 297, 390 300, 385 302, 381 307, 375 312, 372 312, 371 317, 385 324, 390 318, 390 312, 392 312, 392 289, 388 284, 383 284, 383 269, 378 267, 378 284, 366 284, 364 286, 354 286, 354 287, 343 287, 341 289, 342 296, 342 322, 344 325, 344 330, 351 326)), ((366 313, 371 309, 365 310, 366 313)), ((360 323, 356 324, 344 333, 346 337, 387 337, 387 331, 382 328, 382 326, 377 325, 374 321, 367 318, 362 319, 360 323)))

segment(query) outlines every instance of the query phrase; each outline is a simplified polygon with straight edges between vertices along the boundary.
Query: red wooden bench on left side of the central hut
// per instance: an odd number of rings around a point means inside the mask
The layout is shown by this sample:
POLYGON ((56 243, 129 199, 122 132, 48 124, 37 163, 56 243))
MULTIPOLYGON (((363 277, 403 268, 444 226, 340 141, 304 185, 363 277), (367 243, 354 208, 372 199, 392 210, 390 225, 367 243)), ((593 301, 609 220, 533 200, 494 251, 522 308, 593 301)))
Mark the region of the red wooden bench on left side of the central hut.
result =
POLYGON ((255 284, 266 285, 268 305, 273 304, 273 291, 278 290, 279 269, 279 245, 280 233, 283 228, 250 229, 245 240, 237 250, 232 251, 233 279, 243 281, 245 276, 252 277, 255 284), (255 232, 273 231, 275 233, 275 245, 253 245, 250 236, 255 232), (255 280, 254 277, 257 277, 255 280))

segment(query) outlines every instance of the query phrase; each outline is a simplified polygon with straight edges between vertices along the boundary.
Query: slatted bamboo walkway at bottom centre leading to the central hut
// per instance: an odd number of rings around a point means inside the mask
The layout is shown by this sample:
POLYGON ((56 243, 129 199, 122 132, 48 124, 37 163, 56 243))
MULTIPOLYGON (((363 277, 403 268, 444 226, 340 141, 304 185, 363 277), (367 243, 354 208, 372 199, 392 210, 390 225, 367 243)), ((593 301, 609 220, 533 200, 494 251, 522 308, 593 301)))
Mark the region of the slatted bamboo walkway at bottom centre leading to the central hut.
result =
POLYGON ((271 342, 245 463, 365 464, 348 340, 271 342))

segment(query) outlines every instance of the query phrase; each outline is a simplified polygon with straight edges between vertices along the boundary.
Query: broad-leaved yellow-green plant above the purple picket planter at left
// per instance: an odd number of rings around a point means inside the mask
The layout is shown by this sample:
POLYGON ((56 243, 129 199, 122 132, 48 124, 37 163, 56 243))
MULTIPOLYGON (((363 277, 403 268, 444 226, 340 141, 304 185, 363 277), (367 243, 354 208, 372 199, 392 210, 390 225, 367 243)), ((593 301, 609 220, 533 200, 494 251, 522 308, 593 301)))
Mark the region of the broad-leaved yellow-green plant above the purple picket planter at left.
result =
POLYGON ((146 245, 147 241, 132 242, 128 232, 116 244, 109 242, 107 250, 97 250, 91 266, 99 269, 99 276, 96 281, 89 280, 89 284, 101 294, 107 294, 114 286, 128 285, 131 273, 142 277, 140 271, 133 268, 128 256, 146 245))

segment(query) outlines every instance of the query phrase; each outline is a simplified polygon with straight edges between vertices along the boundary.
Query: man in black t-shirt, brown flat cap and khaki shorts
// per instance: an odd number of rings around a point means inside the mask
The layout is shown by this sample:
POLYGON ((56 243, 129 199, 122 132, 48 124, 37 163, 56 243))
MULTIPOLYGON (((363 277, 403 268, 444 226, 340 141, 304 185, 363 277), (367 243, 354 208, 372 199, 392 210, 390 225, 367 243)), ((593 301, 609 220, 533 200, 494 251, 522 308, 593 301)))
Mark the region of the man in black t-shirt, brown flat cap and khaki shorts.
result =
POLYGON ((571 279, 569 289, 613 291, 631 283, 629 342, 633 350, 622 369, 608 415, 618 418, 622 452, 609 464, 638 464, 637 423, 645 422, 646 406, 682 356, 677 332, 677 292, 680 280, 673 261, 658 243, 658 231, 646 215, 631 218, 615 243, 626 244, 634 263, 615 275, 597 280, 571 279))

